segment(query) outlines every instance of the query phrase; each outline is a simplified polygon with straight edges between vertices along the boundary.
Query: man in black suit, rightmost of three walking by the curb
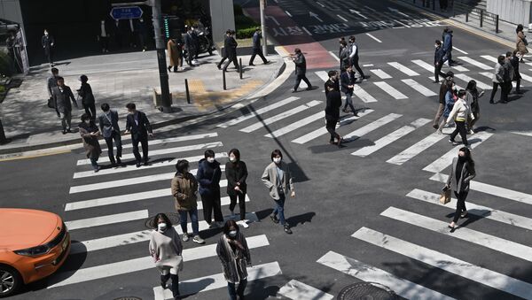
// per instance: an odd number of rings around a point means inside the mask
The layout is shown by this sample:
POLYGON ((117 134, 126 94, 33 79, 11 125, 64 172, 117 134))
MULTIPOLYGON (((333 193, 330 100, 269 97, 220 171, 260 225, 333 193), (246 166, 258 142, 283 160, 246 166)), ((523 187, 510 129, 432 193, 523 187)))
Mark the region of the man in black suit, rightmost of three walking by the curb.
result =
POLYGON ((128 119, 126 120, 126 134, 131 133, 133 143, 133 155, 137 159, 137 167, 140 167, 141 159, 138 153, 138 142, 142 145, 142 156, 144 165, 148 165, 148 135, 153 137, 150 121, 144 112, 138 112, 137 106, 133 103, 127 104, 128 119))

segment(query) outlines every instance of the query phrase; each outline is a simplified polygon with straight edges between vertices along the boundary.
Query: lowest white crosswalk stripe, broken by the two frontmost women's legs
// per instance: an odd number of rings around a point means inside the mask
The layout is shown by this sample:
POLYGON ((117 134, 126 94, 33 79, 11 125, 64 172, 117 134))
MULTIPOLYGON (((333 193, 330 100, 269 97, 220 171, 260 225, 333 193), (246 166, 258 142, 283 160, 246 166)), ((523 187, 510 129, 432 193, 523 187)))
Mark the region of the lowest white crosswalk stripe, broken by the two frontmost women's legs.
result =
MULTIPOLYGON (((264 278, 281 274, 281 267, 278 262, 254 265, 247 268, 247 281, 258 281, 264 278)), ((253 283, 252 283, 253 284, 253 283)), ((223 273, 194 278, 188 281, 179 281, 179 292, 182 296, 198 294, 217 288, 225 288, 227 292, 227 281, 223 273)), ((154 300, 174 299, 169 288, 162 289, 160 286, 153 288, 154 300)))

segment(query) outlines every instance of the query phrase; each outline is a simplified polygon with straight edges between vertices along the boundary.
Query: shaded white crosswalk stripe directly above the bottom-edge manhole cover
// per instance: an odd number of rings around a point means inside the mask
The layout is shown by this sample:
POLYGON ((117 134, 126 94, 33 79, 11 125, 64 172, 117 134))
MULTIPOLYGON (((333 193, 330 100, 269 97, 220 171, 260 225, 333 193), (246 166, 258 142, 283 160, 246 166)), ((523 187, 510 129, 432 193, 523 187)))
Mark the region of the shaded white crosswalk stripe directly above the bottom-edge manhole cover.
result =
POLYGON ((317 260, 317 263, 326 265, 341 273, 358 278, 361 281, 379 282, 387 287, 393 287, 397 295, 406 299, 431 299, 451 300, 450 296, 440 294, 430 288, 425 288, 412 281, 396 277, 372 265, 366 265, 361 261, 345 257, 339 253, 329 251, 317 260))

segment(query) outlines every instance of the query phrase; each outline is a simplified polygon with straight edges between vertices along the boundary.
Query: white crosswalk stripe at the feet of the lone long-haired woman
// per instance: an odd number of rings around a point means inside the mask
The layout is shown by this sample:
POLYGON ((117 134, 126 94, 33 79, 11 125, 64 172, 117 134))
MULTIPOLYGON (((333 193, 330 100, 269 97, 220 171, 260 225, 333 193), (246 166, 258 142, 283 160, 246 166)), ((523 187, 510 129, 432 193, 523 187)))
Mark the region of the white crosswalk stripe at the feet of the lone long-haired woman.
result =
POLYGON ((410 227, 417 226, 432 230, 442 235, 456 237, 465 242, 472 242, 479 246, 532 262, 532 248, 517 242, 512 242, 497 236, 484 234, 480 231, 469 229, 467 227, 458 227, 456 231, 451 233, 449 227, 447 227, 449 225, 448 222, 444 222, 439 219, 431 219, 414 212, 403 211, 401 209, 395 208, 394 206, 390 206, 386 211, 381 212, 380 215, 405 222, 410 227), (412 222, 413 219, 416 221, 412 222))

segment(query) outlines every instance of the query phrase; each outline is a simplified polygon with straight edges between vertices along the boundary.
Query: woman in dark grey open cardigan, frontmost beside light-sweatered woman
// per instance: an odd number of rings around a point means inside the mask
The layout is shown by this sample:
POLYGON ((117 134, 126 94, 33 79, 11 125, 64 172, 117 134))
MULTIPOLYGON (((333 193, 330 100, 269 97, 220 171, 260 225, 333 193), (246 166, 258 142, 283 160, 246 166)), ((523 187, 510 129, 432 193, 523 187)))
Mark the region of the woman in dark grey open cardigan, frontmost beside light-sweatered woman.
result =
POLYGON ((223 276, 227 281, 227 289, 231 300, 244 300, 247 284, 246 266, 251 265, 251 254, 247 247, 246 237, 240 233, 239 226, 233 219, 227 220, 223 226, 223 235, 216 245, 216 254, 222 262, 223 276), (236 285, 239 284, 239 288, 236 285))

